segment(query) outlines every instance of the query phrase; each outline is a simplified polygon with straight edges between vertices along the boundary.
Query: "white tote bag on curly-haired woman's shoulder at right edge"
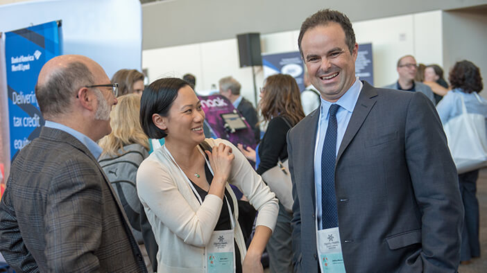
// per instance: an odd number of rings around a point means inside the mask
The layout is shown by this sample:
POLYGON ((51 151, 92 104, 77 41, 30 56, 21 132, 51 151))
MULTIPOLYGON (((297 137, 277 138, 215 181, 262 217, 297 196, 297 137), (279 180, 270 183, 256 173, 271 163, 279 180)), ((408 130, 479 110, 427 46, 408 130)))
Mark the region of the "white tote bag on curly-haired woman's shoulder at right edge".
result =
MULTIPOLYGON (((474 94, 481 101, 479 95, 474 94)), ((460 98, 462 113, 443 126, 459 174, 487 166, 486 118, 468 113, 463 96, 460 98)))

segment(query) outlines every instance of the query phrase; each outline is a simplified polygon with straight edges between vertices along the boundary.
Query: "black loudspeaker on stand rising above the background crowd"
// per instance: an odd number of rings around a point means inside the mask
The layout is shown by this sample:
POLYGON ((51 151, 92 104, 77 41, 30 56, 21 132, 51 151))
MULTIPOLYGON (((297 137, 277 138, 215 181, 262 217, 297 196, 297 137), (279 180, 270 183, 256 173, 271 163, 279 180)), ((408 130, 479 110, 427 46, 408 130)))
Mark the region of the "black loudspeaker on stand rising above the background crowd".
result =
POLYGON ((257 85, 255 84, 255 66, 262 66, 260 50, 260 33, 243 33, 237 35, 239 42, 240 67, 252 67, 254 82, 254 100, 257 105, 257 85))

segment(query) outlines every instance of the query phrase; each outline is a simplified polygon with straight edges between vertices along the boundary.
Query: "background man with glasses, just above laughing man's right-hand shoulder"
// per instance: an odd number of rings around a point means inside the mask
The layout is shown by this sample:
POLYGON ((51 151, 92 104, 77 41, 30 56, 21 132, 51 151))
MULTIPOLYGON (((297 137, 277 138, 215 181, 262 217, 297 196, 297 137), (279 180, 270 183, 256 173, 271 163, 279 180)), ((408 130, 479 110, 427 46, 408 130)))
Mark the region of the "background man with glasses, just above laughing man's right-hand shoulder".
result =
POLYGON ((405 55, 398 60, 398 74, 399 79, 391 85, 387 85, 384 88, 397 89, 403 91, 418 91, 425 94, 432 101, 434 100, 434 93, 432 89, 423 84, 422 82, 416 82, 414 77, 416 76, 416 71, 418 70, 418 64, 416 59, 411 55, 405 55))

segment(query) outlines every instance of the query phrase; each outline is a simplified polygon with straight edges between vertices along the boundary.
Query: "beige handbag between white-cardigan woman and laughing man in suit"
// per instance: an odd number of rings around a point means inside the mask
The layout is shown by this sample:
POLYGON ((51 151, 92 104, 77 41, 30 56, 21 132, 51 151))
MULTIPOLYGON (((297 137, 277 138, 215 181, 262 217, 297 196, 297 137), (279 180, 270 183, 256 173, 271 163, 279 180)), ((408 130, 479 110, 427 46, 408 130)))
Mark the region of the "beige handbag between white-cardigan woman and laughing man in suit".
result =
POLYGON ((289 162, 284 160, 283 162, 277 161, 277 165, 273 168, 266 170, 262 174, 262 179, 266 182, 267 186, 271 188, 271 191, 275 193, 275 196, 279 202, 284 206, 287 212, 293 211, 293 195, 291 174, 289 173, 289 162))

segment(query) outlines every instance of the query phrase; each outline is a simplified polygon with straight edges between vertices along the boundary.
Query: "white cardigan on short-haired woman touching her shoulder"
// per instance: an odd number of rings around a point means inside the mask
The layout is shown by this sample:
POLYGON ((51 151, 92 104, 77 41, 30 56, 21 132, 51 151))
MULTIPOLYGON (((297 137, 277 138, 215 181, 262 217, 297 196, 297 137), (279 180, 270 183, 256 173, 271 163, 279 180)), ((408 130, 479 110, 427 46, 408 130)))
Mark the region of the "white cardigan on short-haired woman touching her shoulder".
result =
MULTIPOLYGON (((223 139, 206 141, 212 147, 225 143, 232 148, 235 159, 228 183, 237 186, 259 211, 256 225, 273 230, 279 211, 275 194, 232 143, 223 139)), ((227 184, 225 188, 232 196, 233 216, 237 223, 237 198, 230 185, 227 184)), ((155 150, 139 166, 137 192, 159 246, 157 272, 206 272, 205 246, 219 219, 223 200, 209 194, 200 204, 185 174, 173 163, 163 147, 155 150)), ((243 262, 246 246, 239 224, 234 229, 234 238, 243 262)))

